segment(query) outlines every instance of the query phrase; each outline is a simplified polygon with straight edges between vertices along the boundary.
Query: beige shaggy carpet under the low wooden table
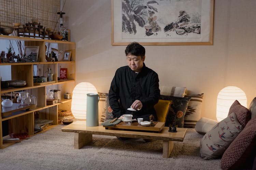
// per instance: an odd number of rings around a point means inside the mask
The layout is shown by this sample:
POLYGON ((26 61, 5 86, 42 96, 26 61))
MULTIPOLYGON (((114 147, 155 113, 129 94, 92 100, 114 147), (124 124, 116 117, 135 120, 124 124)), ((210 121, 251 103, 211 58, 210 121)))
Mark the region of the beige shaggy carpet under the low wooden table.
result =
POLYGON ((74 133, 62 132, 60 124, 0 150, 0 169, 93 169, 93 170, 218 170, 221 159, 199 156, 203 135, 188 129, 183 142, 174 142, 169 158, 162 157, 162 141, 120 140, 93 135, 93 142, 74 149, 74 133))

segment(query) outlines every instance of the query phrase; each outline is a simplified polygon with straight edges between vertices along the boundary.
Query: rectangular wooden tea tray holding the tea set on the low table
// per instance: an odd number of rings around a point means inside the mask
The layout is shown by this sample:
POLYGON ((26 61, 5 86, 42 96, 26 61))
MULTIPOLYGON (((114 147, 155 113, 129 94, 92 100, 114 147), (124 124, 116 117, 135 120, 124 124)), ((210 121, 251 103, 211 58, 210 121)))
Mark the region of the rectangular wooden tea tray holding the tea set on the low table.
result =
POLYGON ((114 126, 104 126, 106 129, 126 129, 126 130, 138 130, 138 131, 154 131, 160 132, 165 126, 165 122, 154 122, 149 126, 142 126, 137 121, 133 121, 130 125, 126 125, 124 122, 120 122, 115 124, 114 126))

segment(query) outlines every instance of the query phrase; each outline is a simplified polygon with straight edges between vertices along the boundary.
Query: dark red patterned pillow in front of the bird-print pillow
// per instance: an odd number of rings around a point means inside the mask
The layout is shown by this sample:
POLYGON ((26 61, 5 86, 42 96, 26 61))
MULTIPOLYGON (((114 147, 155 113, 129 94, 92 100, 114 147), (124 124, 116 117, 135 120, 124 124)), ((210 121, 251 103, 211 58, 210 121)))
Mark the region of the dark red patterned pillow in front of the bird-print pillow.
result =
POLYGON ((251 169, 256 150, 256 117, 248 121, 221 159, 221 168, 251 169), (246 166, 249 167, 246 167, 246 166))

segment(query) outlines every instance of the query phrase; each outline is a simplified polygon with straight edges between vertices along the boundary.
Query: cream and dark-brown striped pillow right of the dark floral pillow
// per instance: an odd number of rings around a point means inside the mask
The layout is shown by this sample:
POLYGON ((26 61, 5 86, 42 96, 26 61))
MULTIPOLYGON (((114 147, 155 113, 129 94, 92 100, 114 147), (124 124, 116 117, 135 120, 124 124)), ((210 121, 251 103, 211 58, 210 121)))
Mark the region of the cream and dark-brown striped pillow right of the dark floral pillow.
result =
POLYGON ((187 111, 185 114, 184 128, 195 128, 197 121, 201 118, 201 108, 203 102, 203 93, 199 95, 186 95, 190 97, 187 111))

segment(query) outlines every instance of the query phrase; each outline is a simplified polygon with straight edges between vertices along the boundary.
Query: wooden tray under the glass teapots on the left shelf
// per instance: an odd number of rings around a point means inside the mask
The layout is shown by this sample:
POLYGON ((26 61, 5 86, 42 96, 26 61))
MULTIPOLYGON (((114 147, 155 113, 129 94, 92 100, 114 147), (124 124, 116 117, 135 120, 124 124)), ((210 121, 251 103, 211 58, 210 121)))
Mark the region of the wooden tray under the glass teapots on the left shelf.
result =
POLYGON ((25 111, 25 110, 32 110, 35 109, 35 104, 29 104, 29 105, 19 105, 19 103, 13 103, 12 107, 2 107, 2 117, 6 117, 11 115, 14 112, 18 111, 25 111))

